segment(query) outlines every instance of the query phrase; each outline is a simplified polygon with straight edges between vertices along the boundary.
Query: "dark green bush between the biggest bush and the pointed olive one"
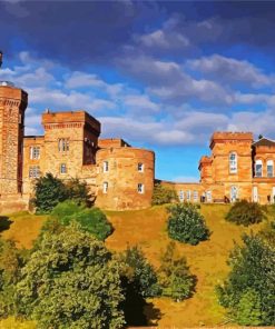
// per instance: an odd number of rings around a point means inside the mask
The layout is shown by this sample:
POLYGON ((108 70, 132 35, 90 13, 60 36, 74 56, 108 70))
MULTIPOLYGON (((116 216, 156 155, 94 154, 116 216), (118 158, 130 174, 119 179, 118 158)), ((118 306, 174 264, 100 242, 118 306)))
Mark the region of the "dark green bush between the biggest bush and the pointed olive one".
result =
POLYGON ((146 260, 141 249, 138 247, 128 247, 126 251, 120 255, 120 261, 125 263, 124 275, 143 297, 147 298, 160 295, 155 269, 146 260))

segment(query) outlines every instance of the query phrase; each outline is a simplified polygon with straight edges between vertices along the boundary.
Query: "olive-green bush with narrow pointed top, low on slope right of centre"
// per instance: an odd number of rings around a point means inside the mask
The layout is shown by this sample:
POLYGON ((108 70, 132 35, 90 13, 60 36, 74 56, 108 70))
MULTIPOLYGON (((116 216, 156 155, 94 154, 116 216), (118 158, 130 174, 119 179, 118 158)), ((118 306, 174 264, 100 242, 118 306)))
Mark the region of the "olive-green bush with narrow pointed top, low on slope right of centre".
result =
POLYGON ((196 279, 190 273, 185 257, 178 257, 175 248, 175 242, 167 246, 160 259, 158 275, 163 296, 179 301, 193 295, 196 279))

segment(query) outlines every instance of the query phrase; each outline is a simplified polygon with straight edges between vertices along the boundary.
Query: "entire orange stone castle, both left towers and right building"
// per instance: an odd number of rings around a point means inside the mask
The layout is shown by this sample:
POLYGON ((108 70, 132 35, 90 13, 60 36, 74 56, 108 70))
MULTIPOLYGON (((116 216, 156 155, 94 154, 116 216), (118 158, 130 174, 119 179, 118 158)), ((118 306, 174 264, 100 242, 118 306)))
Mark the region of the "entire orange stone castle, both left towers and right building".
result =
MULTIPOLYGON (((0 212, 28 209, 33 183, 47 172, 85 180, 104 209, 148 208, 155 182, 154 151, 122 139, 100 139, 100 122, 85 111, 42 114, 43 136, 24 136, 26 91, 0 83, 0 212)), ((214 132, 210 157, 199 161, 200 181, 160 181, 180 201, 275 199, 275 141, 252 132, 214 132)))

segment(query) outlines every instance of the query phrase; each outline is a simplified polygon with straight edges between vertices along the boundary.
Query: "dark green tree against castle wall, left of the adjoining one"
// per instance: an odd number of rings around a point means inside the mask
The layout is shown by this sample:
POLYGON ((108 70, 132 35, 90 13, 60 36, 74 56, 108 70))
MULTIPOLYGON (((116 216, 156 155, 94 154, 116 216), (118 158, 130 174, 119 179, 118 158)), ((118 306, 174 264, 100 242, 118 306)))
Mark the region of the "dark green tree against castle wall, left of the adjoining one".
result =
POLYGON ((40 213, 49 213, 59 202, 68 199, 63 182, 49 172, 37 180, 35 193, 33 203, 40 213))

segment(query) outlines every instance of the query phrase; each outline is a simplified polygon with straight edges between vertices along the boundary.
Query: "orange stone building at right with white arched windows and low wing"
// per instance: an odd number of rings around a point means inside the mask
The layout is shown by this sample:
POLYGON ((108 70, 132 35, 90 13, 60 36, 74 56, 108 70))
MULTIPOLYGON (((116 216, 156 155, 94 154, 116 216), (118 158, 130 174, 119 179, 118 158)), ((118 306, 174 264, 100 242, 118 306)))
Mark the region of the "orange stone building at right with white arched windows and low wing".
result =
POLYGON ((254 141, 252 132, 217 131, 209 148, 210 156, 199 161, 198 183, 163 182, 177 190, 180 201, 274 203, 275 141, 254 141))

